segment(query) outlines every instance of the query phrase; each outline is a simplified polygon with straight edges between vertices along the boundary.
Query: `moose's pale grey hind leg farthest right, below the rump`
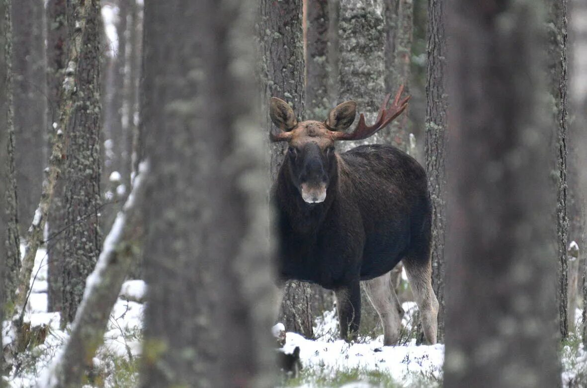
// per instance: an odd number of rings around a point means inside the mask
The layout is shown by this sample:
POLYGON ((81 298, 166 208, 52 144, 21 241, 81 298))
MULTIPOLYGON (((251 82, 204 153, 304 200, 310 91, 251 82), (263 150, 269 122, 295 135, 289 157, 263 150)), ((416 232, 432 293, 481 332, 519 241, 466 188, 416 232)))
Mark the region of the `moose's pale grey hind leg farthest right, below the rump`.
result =
POLYGON ((430 259, 424 262, 406 258, 403 260, 411 291, 416 298, 420 310, 424 337, 433 344, 436 343, 438 330, 438 300, 432 288, 432 265, 430 259))

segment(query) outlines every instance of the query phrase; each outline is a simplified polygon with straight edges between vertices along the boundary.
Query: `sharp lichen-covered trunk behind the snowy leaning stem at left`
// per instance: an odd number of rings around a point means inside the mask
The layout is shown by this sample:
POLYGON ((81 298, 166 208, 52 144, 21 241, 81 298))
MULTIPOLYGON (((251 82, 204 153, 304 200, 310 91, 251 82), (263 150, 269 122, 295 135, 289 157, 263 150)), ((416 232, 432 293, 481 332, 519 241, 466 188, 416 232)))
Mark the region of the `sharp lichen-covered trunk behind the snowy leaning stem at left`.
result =
MULTIPOLYGON (((82 5, 78 5, 81 7, 82 5)), ((72 322, 93 271, 102 236, 100 208, 100 17, 99 0, 90 0, 76 66, 77 92, 68 122, 65 164, 66 225, 61 325, 72 322)))

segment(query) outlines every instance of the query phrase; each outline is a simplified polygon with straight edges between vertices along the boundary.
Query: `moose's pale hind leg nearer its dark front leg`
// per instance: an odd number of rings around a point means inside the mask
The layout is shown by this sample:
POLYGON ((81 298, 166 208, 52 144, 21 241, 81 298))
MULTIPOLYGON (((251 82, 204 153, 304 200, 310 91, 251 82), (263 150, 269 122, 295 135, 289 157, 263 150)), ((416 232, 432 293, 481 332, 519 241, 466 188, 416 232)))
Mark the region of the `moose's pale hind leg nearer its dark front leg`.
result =
POLYGON ((383 325, 383 345, 396 345, 402 330, 403 308, 393 289, 389 272, 362 282, 367 298, 379 314, 383 325))

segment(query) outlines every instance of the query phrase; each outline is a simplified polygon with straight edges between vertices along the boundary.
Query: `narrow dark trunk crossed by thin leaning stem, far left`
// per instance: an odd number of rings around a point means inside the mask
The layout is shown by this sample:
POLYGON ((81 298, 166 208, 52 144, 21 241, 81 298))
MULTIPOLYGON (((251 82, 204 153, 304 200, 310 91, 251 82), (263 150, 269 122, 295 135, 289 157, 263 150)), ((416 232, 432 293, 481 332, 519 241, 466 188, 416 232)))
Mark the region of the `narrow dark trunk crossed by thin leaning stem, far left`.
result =
MULTIPOLYGON (((67 62, 67 13, 66 0, 47 2, 47 104, 49 144, 53 144, 59 122, 59 96, 67 62)), ((50 205, 47 221, 48 259, 48 311, 61 311, 63 232, 65 231, 65 208, 63 208, 63 177, 57 178, 55 195, 50 205)))

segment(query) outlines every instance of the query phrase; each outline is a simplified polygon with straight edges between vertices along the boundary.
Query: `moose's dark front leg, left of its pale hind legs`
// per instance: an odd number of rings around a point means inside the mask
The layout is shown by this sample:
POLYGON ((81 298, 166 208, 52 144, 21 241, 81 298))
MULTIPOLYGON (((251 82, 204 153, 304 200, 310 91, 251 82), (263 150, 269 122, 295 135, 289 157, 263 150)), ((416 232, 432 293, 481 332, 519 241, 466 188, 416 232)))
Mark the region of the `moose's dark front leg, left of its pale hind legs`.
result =
POLYGON ((359 279, 353 281, 349 286, 336 289, 335 294, 340 338, 346 341, 355 340, 361 321, 361 289, 359 279))

